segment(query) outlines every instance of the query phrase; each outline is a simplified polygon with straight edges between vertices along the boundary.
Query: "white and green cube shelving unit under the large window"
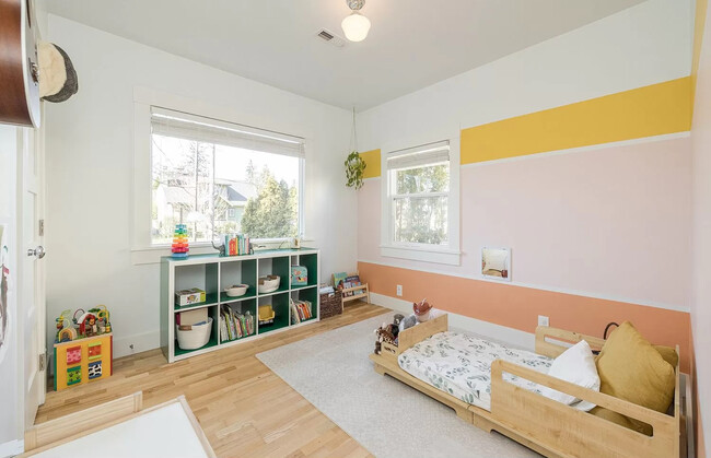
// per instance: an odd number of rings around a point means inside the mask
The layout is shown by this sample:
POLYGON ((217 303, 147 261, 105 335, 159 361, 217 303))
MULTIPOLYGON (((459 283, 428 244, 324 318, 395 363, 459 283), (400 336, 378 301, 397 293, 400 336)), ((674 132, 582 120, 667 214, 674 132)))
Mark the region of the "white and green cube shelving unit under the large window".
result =
POLYGON ((170 256, 161 258, 161 347, 165 357, 168 363, 173 363, 259 339, 272 332, 288 331, 318 321, 319 273, 319 251, 313 248, 265 250, 245 256, 196 255, 187 259, 174 259, 170 256), (306 267, 308 274, 306 285, 291 285, 291 266, 306 267), (279 289, 271 293, 260 294, 257 291, 257 279, 267 274, 281 278, 279 289), (246 294, 240 297, 228 296, 224 290, 237 283, 249 286, 246 294), (190 287, 205 290, 206 301, 182 307, 176 305, 175 292, 190 287), (311 302, 313 318, 292 325, 290 297, 311 302), (258 306, 264 304, 271 304, 276 317, 272 324, 259 326, 258 306), (223 305, 242 314, 249 310, 255 317, 255 333, 233 340, 220 340, 220 308, 223 305), (212 318, 210 340, 199 349, 183 350, 178 347, 175 337, 176 314, 197 308, 207 308, 208 316, 212 318))

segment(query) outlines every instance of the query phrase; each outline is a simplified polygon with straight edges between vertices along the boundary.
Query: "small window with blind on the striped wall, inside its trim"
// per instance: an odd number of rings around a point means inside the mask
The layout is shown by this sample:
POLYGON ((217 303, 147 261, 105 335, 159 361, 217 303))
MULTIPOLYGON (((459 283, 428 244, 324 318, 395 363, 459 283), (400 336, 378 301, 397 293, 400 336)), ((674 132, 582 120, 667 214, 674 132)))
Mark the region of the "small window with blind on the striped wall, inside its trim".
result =
POLYGON ((412 250, 444 253, 458 248, 458 231, 452 231, 458 224, 458 214, 454 214, 458 199, 453 198, 458 192, 458 174, 453 177, 450 153, 450 142, 442 141, 385 155, 386 256, 429 260, 432 257, 412 257, 408 251, 411 255, 412 250))

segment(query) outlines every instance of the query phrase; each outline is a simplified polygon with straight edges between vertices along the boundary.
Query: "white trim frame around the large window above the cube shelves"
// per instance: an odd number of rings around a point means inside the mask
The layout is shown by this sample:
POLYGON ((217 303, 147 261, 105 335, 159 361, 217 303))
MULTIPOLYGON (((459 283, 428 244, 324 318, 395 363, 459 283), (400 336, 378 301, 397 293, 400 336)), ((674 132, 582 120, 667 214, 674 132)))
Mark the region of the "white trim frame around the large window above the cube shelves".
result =
MULTIPOLYGON (((135 265, 160 262, 162 256, 170 255, 170 244, 153 244, 151 237, 152 221, 152 138, 151 138, 151 109, 161 107, 174 111, 188 113, 195 116, 219 119, 243 126, 259 126, 259 129, 275 132, 289 132, 294 137, 304 139, 305 158, 299 161, 299 237, 310 240, 306 235, 306 161, 311 157, 313 132, 303 126, 288 122, 275 122, 254 114, 234 111, 223 106, 206 105, 202 101, 168 94, 158 90, 136 86, 133 87, 133 184, 132 210, 130 222, 131 262, 135 265)), ((260 238, 253 242, 275 247, 291 238, 260 238)), ((200 255, 215 253, 210 242, 190 243, 190 254, 200 255)))

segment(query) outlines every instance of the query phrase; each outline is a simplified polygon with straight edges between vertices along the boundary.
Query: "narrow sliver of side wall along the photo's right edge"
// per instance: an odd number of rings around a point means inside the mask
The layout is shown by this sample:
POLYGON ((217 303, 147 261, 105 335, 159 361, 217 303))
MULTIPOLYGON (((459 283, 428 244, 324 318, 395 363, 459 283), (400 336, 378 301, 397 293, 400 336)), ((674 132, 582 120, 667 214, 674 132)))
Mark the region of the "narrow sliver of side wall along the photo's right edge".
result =
POLYGON ((698 0, 696 11, 691 71, 696 83, 691 129, 695 273, 691 334, 693 348, 700 350, 695 354, 692 371, 697 391, 697 457, 704 458, 704 444, 711 441, 711 10, 708 0, 698 0))

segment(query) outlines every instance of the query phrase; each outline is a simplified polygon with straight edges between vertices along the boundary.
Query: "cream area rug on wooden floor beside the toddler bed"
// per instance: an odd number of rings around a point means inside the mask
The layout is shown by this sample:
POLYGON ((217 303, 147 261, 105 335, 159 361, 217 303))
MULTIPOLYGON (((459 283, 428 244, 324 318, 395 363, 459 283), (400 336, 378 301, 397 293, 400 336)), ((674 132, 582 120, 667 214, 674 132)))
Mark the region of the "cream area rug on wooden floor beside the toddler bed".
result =
POLYGON ((539 457, 373 369, 373 330, 392 314, 280 347, 257 357, 380 458, 539 457))

